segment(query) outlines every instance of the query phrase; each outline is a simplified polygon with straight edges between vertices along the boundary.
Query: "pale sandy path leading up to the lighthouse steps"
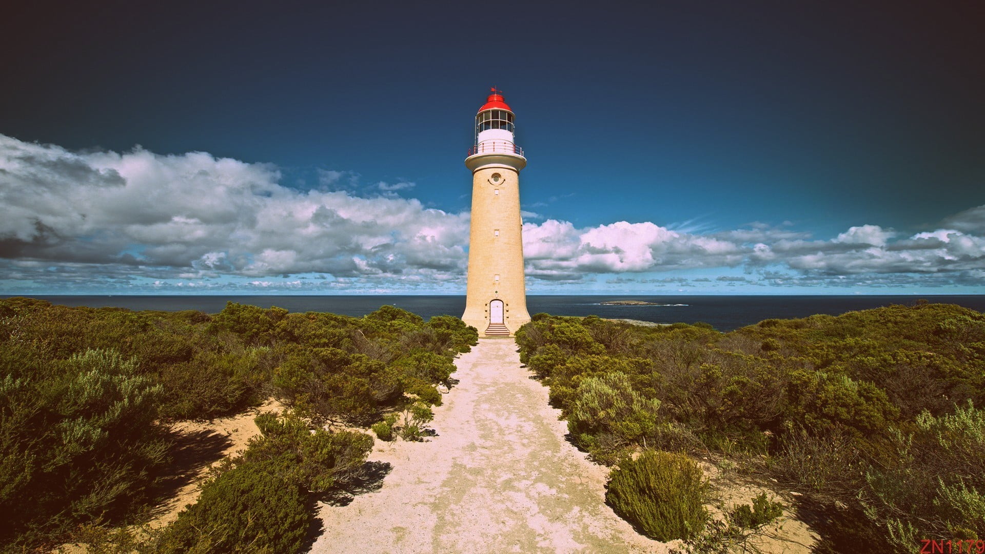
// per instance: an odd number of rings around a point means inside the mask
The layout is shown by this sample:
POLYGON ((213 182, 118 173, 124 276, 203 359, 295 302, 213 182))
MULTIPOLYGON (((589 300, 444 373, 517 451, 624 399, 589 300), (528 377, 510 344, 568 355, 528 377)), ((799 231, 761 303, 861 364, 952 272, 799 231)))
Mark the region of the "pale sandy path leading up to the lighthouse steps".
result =
POLYGON ((376 442, 392 471, 322 506, 312 552, 666 552, 605 504, 608 469, 564 440, 511 339, 480 339, 434 409, 429 442, 376 442))

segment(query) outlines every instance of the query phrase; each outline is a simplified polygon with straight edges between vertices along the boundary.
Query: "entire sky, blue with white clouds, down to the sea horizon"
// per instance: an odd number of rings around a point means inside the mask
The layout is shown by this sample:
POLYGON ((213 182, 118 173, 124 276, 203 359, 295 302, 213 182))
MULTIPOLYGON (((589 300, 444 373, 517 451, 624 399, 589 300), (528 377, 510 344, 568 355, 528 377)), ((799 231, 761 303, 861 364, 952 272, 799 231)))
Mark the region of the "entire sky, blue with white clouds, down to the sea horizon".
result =
POLYGON ((985 294, 981 2, 20 3, 0 295, 464 294, 516 112, 531 294, 985 294))

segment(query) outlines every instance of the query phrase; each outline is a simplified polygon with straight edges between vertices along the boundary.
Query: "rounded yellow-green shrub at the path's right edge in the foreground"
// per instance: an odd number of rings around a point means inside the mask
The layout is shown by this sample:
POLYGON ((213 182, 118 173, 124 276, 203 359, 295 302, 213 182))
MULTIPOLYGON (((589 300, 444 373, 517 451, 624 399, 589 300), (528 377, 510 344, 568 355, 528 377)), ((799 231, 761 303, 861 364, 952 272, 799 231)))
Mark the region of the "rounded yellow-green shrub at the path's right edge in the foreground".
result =
POLYGON ((641 533, 666 542, 704 528, 706 490, 701 468, 688 456, 643 450, 612 471, 606 501, 641 533))

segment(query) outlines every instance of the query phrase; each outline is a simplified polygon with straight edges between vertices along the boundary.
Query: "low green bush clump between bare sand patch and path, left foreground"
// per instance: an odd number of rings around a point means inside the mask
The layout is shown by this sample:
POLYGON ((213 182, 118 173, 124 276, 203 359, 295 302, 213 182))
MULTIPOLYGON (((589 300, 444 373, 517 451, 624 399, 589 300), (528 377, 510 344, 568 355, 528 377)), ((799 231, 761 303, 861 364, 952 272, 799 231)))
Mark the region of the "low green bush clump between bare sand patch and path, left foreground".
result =
POLYGON ((256 418, 261 436, 227 458, 148 548, 177 552, 299 552, 314 494, 355 478, 372 449, 364 433, 309 429, 292 415, 256 418))

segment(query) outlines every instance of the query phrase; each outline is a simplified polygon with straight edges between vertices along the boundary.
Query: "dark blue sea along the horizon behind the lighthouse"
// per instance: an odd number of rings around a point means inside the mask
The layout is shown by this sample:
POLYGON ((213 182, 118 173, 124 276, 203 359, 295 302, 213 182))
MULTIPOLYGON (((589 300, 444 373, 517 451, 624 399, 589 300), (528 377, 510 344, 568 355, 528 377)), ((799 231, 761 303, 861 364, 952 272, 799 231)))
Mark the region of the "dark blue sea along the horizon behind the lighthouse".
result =
MULTIPOLYGON (((9 297, 8 297, 9 298, 9 297)), ((425 319, 433 315, 461 316, 464 296, 35 296, 52 304, 114 307, 128 310, 220 312, 227 302, 262 308, 277 306, 290 312, 333 312, 361 316, 383 305, 414 312, 425 319)), ((837 315, 893 304, 912 306, 918 300, 956 304, 985 312, 985 295, 935 296, 538 296, 527 297, 531 314, 598 315, 654 323, 703 321, 720 331, 731 331, 762 319, 806 317, 815 313, 837 315), (638 300, 652 306, 607 306, 618 300, 638 300)))

